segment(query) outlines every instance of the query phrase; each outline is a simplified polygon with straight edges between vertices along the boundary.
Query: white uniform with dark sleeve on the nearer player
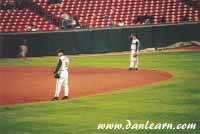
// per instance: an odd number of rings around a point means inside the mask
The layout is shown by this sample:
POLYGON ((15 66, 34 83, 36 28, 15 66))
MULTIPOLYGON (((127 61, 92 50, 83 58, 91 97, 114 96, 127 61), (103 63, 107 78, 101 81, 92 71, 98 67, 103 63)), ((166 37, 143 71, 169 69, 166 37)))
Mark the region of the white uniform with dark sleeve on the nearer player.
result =
POLYGON ((62 86, 64 87, 64 95, 69 95, 68 66, 69 58, 64 55, 59 57, 58 69, 56 71, 60 74, 60 78, 56 79, 55 97, 59 97, 62 86))

